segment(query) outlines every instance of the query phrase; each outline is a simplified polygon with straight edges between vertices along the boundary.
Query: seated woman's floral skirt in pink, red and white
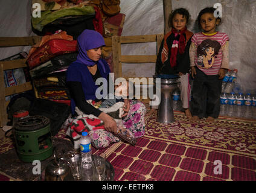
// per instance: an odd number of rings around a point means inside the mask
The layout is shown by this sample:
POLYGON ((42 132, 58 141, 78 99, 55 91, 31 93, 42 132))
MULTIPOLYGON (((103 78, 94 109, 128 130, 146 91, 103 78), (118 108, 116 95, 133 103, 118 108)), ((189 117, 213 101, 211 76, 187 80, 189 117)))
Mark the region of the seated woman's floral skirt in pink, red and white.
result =
MULTIPOLYGON (((126 118, 122 120, 127 131, 133 133, 135 138, 141 138, 145 134, 144 116, 146 107, 140 101, 130 100, 130 110, 126 118)), ((89 116, 77 117, 70 121, 66 134, 72 137, 74 148, 79 148, 79 139, 82 132, 87 131, 95 148, 106 148, 111 143, 118 142, 114 134, 104 129, 103 121, 89 116)))

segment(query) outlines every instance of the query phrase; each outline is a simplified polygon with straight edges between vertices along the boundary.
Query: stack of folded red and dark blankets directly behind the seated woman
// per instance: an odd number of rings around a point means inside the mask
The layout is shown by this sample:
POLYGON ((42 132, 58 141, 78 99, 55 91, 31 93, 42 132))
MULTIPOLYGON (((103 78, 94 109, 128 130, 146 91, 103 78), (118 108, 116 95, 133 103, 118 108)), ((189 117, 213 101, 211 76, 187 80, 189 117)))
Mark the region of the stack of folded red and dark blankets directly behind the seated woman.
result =
POLYGON ((61 30, 43 36, 30 49, 27 63, 36 98, 70 105, 66 70, 77 59, 77 51, 77 40, 61 30))

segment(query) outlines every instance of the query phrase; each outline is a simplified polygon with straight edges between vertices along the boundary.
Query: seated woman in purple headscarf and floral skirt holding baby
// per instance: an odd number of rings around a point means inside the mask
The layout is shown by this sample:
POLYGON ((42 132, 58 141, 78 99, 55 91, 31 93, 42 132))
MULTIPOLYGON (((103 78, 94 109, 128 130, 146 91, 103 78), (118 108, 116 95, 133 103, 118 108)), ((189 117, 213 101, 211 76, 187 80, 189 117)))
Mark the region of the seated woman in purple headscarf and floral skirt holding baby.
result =
MULTIPOLYGON (((114 136, 117 134, 117 122, 107 113, 92 106, 95 102, 101 101, 96 97, 97 78, 102 77, 109 81, 109 66, 105 60, 101 59, 101 48, 105 46, 104 39, 97 31, 85 30, 78 36, 77 42, 77 60, 71 63, 66 73, 66 83, 71 94, 71 112, 74 117, 67 134, 74 139, 75 148, 79 148, 82 131, 89 132, 95 148, 106 148, 110 143, 119 141, 114 136), (92 103, 88 103, 89 100, 92 103), (75 107, 88 116, 75 117, 77 116, 75 107)), ((129 99, 123 101, 123 125, 126 130, 139 138, 145 133, 146 107, 139 101, 129 99)))

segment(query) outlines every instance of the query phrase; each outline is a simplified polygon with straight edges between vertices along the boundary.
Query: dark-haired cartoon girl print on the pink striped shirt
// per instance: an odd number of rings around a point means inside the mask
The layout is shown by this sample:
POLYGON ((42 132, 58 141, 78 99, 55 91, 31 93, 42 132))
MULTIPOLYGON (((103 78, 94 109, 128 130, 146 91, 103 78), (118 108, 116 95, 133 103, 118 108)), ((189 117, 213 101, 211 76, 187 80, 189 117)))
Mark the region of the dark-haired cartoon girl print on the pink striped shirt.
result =
POLYGON ((216 59, 216 55, 219 54, 221 45, 216 40, 206 39, 197 47, 197 65, 200 68, 212 68, 216 59))

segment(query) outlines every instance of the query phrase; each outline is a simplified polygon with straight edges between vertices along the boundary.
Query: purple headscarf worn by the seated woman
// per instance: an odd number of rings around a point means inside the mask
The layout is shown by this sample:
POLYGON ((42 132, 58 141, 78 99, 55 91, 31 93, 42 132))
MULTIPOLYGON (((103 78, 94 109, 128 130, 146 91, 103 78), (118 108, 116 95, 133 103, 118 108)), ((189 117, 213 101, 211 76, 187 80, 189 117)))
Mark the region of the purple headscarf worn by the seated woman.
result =
POLYGON ((94 66, 95 62, 89 59, 87 50, 105 46, 104 38, 94 30, 84 30, 77 38, 78 55, 77 62, 86 66, 94 66))

